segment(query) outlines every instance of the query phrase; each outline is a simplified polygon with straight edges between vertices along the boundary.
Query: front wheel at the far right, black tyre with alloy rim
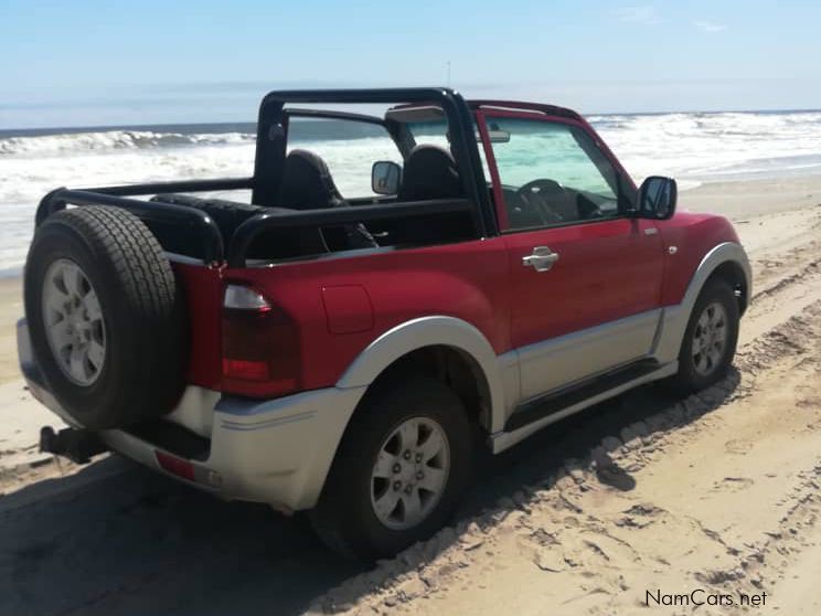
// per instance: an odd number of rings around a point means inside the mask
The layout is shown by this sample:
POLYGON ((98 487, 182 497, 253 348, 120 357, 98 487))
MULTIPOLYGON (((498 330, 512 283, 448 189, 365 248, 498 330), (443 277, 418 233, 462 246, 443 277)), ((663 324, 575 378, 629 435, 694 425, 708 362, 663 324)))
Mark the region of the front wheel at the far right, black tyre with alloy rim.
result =
POLYGON ((690 394, 708 387, 726 375, 738 342, 738 302, 733 288, 719 278, 707 280, 684 330, 679 351, 679 372, 670 381, 674 391, 690 394), (714 321, 712 332, 702 327, 711 318, 714 321), (714 343, 719 336, 723 336, 723 344, 721 351, 715 352, 717 348, 714 343), (703 341, 711 343, 707 344, 710 351, 703 350, 703 341))

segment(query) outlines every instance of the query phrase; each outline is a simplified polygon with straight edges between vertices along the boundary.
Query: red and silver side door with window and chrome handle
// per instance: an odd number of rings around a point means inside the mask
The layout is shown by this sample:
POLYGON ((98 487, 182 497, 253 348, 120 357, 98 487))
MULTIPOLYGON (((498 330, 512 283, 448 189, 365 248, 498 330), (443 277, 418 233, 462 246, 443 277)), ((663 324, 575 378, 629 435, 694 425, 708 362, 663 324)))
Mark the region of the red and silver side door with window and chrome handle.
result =
POLYGON ((526 400, 647 355, 662 246, 628 217, 635 191, 582 123, 480 111, 511 264, 511 342, 526 400))

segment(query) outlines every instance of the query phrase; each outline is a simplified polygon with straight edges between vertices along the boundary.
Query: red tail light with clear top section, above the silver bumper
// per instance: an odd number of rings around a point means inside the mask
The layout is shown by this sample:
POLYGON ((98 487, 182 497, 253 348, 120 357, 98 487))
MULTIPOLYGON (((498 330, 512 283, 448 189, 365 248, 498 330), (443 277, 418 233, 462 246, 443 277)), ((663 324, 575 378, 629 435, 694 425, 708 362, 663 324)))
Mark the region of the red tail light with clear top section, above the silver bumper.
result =
POLYGON ((277 396, 299 389, 299 336, 296 323, 263 293, 228 284, 222 317, 223 390, 277 396))

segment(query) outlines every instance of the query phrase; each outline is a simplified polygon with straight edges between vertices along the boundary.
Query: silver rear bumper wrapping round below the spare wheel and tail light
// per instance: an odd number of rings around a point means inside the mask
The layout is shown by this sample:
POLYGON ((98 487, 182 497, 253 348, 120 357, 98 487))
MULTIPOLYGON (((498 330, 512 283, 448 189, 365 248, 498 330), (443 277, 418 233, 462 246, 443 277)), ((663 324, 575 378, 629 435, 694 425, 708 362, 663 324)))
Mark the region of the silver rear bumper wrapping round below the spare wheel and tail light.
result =
MULTIPOLYGON (((18 351, 32 394, 67 424, 82 427, 45 385, 24 320, 18 323, 18 351)), ((99 436, 110 449, 223 498, 266 502, 286 511, 309 509, 319 498, 364 391, 364 386, 328 387, 259 401, 189 386, 163 422, 182 426, 205 443, 195 455, 142 432, 138 436, 138 431, 104 431, 99 436), (188 478, 163 468, 158 454, 183 460, 191 469, 188 478)))

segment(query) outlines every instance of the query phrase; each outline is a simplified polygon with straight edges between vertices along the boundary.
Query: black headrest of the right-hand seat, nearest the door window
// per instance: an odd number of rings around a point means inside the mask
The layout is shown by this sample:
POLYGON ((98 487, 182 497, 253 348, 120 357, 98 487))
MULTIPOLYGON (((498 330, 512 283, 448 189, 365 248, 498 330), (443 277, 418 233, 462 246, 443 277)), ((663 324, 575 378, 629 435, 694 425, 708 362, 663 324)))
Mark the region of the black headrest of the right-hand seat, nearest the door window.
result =
POLYGON ((444 148, 416 146, 405 161, 399 201, 465 197, 454 157, 444 148))

